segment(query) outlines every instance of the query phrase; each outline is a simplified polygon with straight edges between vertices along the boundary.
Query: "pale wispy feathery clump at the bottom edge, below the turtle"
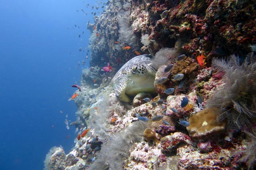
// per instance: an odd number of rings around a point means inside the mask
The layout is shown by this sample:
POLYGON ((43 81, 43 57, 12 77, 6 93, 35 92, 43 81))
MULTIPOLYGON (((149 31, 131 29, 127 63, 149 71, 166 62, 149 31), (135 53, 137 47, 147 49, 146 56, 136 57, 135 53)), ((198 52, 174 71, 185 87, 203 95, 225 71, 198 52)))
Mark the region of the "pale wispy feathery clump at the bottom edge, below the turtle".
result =
POLYGON ((97 160, 91 165, 90 170, 122 170, 125 160, 129 157, 129 149, 135 142, 143 139, 146 123, 137 121, 116 133, 103 143, 97 160))

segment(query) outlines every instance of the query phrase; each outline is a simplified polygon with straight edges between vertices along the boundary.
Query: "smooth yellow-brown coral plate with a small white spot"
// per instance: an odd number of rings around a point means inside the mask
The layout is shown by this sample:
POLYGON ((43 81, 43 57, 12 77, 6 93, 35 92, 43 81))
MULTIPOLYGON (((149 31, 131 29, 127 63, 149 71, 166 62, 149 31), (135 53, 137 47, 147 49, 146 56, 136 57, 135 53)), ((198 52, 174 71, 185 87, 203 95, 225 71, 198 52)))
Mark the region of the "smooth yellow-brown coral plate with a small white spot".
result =
POLYGON ((190 137, 205 137, 211 134, 220 134, 225 130, 226 121, 217 121, 215 111, 218 108, 204 108, 189 118, 187 127, 190 137))

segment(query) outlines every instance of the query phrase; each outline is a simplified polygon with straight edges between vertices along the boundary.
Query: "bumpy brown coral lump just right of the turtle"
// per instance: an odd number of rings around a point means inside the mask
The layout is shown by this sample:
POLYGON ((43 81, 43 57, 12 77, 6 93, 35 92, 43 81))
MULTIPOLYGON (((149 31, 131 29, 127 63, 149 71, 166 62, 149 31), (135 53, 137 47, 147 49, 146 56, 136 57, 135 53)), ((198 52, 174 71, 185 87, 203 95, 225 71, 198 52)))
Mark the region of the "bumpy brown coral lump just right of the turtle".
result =
POLYGON ((193 62, 190 57, 187 57, 185 60, 180 60, 173 64, 172 74, 189 74, 192 71, 196 70, 198 64, 193 62))

